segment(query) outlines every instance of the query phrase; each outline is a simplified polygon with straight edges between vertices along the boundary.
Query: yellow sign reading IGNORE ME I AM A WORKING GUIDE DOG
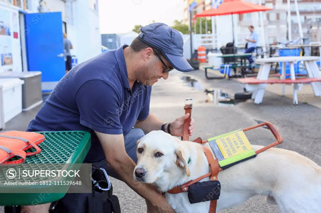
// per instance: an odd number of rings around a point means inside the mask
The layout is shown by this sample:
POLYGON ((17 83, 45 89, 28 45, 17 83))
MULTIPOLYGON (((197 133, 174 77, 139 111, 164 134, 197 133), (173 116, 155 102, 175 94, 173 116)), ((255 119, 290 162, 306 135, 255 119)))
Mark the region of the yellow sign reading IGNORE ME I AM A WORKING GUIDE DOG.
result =
POLYGON ((252 146, 247 140, 243 130, 217 138, 215 141, 225 159, 252 149, 252 146))

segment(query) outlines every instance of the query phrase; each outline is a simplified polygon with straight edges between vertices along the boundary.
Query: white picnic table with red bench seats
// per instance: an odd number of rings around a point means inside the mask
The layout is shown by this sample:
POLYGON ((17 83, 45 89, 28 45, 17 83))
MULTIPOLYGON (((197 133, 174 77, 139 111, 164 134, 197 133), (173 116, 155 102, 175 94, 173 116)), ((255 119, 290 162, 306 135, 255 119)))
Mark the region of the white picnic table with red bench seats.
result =
MULTIPOLYGON (((299 61, 303 61, 304 65, 306 67, 306 70, 308 72, 309 78, 316 78, 316 82, 312 82, 312 88, 314 91, 314 95, 316 97, 320 96, 321 93, 321 76, 320 71, 317 66, 316 61, 320 60, 320 57, 318 56, 283 56, 283 57, 271 57, 271 58, 263 58, 263 59, 256 59, 256 64, 261 64, 257 77, 257 80, 268 80, 270 71, 271 71, 271 65, 273 63, 279 62, 282 63, 282 75, 280 76, 280 80, 277 83, 282 83, 282 80, 285 79, 285 62, 290 63, 290 74, 291 74, 291 80, 295 80, 295 72, 294 72, 294 63, 297 63, 299 61)), ((242 83, 242 79, 239 79, 242 83)), ((253 80, 253 79, 252 79, 253 80)), ((310 79, 311 80, 311 79, 310 79)), ((266 81, 265 81, 266 82, 266 81)), ((284 82, 284 81, 283 81, 284 82)), ((293 82, 293 81, 292 81, 293 82)), ((244 86, 247 91, 253 91, 252 93, 252 99, 254 99, 255 104, 261 104, 265 92, 265 88, 267 86, 267 83, 249 83, 247 80, 244 80, 244 86)), ((274 81, 275 83, 275 81, 274 81)), ((291 83, 293 87, 293 103, 298 104, 298 97, 297 97, 297 91, 301 90, 301 87, 303 83, 291 83)), ((285 93, 285 83, 283 83, 283 89, 282 94, 284 96, 285 93)), ((321 100, 320 100, 321 101, 321 100)))

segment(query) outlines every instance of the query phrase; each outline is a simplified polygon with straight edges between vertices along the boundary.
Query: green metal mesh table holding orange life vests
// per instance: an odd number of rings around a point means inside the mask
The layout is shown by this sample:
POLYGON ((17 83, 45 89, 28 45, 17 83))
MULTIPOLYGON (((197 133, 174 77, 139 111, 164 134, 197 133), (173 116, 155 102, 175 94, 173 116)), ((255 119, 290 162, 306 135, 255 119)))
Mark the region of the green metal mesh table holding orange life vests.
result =
MULTIPOLYGON (((85 156, 91 147, 91 135, 86 131, 56 131, 56 132, 38 132, 45 136, 45 140, 38 146, 41 152, 34 156, 26 158, 21 166, 36 166, 48 164, 48 168, 53 165, 61 165, 60 169, 66 168, 65 165, 82 164, 85 156), (41 163, 41 164, 39 164, 41 163), (28 164, 28 165, 25 165, 28 164)), ((70 167, 69 167, 70 168, 70 167)), ((4 181, 10 179, 5 173, 4 167, 0 167, 0 192, 8 192, 13 190, 14 193, 0 193, 0 206, 4 206, 5 213, 20 212, 20 206, 44 204, 57 201, 65 196, 70 185, 4 185, 4 181), (16 188, 15 188, 16 187, 16 188), (61 193, 40 193, 41 190, 57 191, 57 187, 61 193), (17 189, 30 193, 15 193, 17 189), (15 190, 15 191, 14 191, 15 190)), ((59 168, 55 168, 59 169, 59 168)), ((60 177, 61 180, 66 180, 60 177)), ((59 179, 58 179, 59 181, 59 179)))

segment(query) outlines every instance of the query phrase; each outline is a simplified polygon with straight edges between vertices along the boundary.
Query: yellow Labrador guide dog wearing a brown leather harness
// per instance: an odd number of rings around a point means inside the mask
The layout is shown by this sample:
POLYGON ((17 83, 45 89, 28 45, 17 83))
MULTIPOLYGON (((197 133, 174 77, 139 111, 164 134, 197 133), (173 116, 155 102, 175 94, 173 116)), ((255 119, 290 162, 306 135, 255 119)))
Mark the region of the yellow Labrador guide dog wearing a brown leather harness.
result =
MULTIPOLYGON (((181 141, 161 130, 152 131, 137 141, 134 178, 166 192, 209 173, 202 146, 211 150, 208 143, 181 141)), ((252 147, 258 150, 263 146, 252 147)), ((209 177, 202 181, 208 180, 209 177)), ((321 213, 321 167, 293 151, 270 148, 220 171, 218 180, 221 194, 217 212, 242 204, 254 195, 266 195, 267 203, 277 204, 281 213, 321 213)), ((165 193, 165 197, 178 213, 209 212, 210 201, 191 204, 187 192, 165 193)))

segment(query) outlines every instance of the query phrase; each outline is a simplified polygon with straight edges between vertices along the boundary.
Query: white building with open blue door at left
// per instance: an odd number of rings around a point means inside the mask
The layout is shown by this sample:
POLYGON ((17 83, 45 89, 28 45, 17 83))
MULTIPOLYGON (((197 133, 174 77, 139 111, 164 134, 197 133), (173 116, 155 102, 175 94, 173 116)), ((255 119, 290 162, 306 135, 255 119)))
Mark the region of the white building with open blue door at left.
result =
POLYGON ((65 75, 63 32, 78 63, 101 53, 98 0, 0 0, 0 14, 0 72, 41 71, 43 91, 65 75))

